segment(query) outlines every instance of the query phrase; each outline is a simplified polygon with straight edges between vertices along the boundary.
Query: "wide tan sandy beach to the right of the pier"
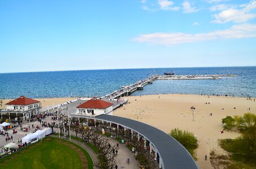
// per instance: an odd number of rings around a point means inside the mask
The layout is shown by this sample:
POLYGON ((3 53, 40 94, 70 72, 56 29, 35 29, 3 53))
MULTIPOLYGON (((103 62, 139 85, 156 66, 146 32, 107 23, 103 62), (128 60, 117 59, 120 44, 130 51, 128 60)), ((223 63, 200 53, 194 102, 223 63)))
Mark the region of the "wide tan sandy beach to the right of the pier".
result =
POLYGON ((199 168, 213 168, 210 164, 210 151, 225 154, 218 146, 218 139, 235 138, 237 132, 224 131, 222 118, 227 115, 256 114, 256 101, 244 97, 218 97, 201 95, 144 95, 128 96, 130 104, 114 110, 114 115, 131 118, 150 124, 168 133, 178 127, 188 130, 199 140, 197 163, 199 168), (205 103, 210 104, 205 104, 205 103), (190 109, 194 106, 196 110, 190 109), (236 108, 236 109, 234 109, 236 108), (248 110, 250 108, 250 110, 248 110), (194 121, 193 114, 194 113, 194 121), (212 113, 212 116, 209 114, 212 113), (207 161, 205 161, 207 155, 207 161))

